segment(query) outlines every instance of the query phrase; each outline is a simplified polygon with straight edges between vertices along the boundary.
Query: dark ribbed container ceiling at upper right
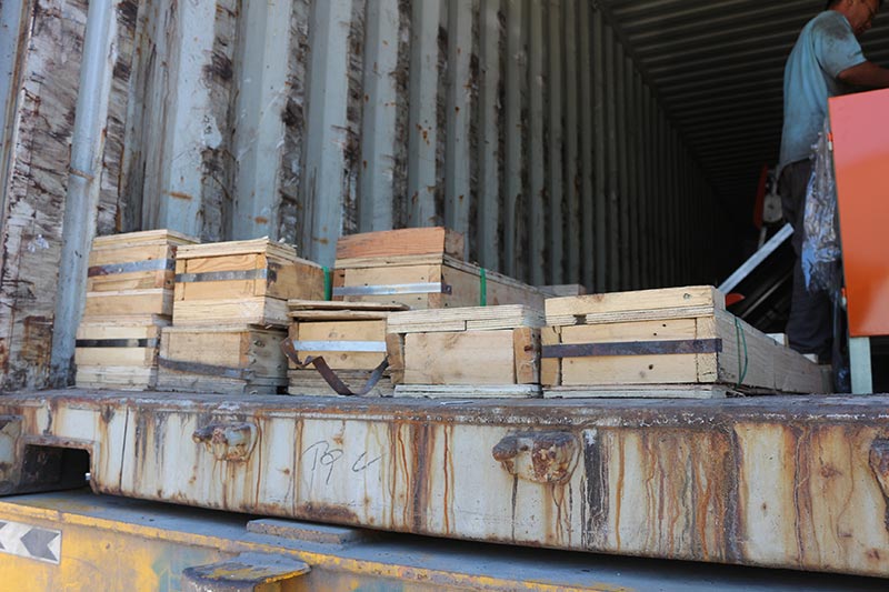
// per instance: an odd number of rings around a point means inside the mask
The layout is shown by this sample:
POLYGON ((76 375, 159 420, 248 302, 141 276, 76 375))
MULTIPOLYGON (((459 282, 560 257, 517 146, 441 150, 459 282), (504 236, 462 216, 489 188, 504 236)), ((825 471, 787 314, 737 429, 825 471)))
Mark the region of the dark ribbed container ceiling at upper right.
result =
MULTIPOLYGON (((823 0, 608 0, 661 106, 731 211, 749 220, 763 164, 781 140, 783 66, 823 0)), ((889 17, 862 38, 889 61, 889 17)))

